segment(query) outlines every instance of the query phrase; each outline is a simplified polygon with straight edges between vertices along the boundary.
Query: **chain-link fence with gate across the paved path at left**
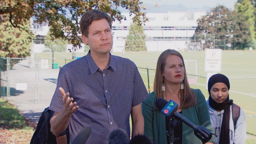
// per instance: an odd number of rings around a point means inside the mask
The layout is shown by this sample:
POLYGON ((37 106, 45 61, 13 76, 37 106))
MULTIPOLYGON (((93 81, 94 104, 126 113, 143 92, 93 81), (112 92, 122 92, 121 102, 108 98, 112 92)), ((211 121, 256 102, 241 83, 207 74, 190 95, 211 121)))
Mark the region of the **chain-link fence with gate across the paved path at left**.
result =
MULTIPOLYGON (((0 57, 0 97, 9 98, 10 95, 15 95, 19 92, 19 89, 22 90, 24 87, 27 87, 27 83, 31 84, 35 90, 38 90, 40 79, 42 77, 42 70, 44 69, 59 69, 63 65, 73 61, 74 59, 65 59, 65 58, 4 58, 0 57), (20 72, 26 73, 24 71, 15 71, 15 64, 20 65, 24 68, 32 68, 32 74, 30 78, 22 79, 20 72), (10 70, 12 71, 10 75, 10 70), (41 73, 40 73, 41 71, 41 73), (15 77, 15 82, 12 81, 15 77), (12 78, 12 80, 11 80, 12 78), (25 85, 26 83, 26 85, 25 85)), ((38 92, 39 93, 39 92, 38 92)), ((35 95, 39 95, 35 93, 35 95)), ((35 100, 38 100, 35 96, 35 100)))

